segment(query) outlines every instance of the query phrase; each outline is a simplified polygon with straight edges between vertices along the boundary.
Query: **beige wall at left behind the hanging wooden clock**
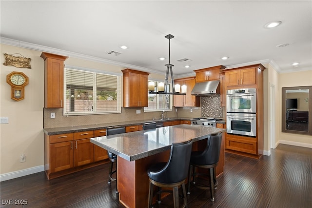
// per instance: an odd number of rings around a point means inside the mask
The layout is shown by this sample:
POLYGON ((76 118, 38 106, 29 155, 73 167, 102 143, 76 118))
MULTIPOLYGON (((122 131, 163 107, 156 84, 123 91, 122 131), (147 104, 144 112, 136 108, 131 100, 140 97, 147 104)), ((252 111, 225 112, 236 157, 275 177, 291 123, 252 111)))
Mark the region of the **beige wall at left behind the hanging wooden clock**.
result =
POLYGON ((44 61, 39 51, 5 44, 1 44, 0 53, 0 117, 9 117, 9 124, 0 124, 2 174, 44 164, 44 61), (4 66, 4 53, 20 53, 31 58, 31 69, 4 66), (29 84, 25 86, 25 99, 19 102, 11 99, 11 87, 6 83, 6 75, 12 71, 23 72, 29 77, 29 84), (25 163, 20 163, 21 154, 26 155, 25 163))

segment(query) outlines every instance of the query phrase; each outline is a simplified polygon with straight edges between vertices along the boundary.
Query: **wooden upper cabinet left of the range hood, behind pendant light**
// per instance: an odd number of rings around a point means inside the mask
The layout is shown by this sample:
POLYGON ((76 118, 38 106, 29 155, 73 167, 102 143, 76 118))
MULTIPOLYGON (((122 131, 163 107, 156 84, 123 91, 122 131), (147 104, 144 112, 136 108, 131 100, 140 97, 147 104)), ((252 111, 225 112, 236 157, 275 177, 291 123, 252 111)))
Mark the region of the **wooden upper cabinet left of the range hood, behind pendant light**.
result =
POLYGON ((175 95, 174 106, 175 107, 198 107, 200 106, 200 98, 191 94, 193 87, 195 86, 195 77, 183 78, 175 80, 175 84, 186 85, 186 95, 175 95))

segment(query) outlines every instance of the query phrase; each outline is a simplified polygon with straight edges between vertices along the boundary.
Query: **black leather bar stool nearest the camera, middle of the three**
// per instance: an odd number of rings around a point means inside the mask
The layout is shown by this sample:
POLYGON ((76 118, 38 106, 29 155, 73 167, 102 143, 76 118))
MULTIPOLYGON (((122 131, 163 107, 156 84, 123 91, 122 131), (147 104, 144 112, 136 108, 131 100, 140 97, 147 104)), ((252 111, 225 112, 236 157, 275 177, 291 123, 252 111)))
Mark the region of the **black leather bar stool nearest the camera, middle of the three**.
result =
POLYGON ((158 203, 162 192, 173 192, 174 207, 179 207, 179 186, 182 186, 184 203, 183 207, 187 207, 185 179, 190 165, 190 156, 192 152, 193 141, 172 144, 170 158, 168 162, 157 163, 147 170, 149 176, 149 194, 148 208, 152 207, 154 196, 154 186, 158 187, 156 192, 158 203), (162 190, 162 187, 173 188, 171 190, 162 190))

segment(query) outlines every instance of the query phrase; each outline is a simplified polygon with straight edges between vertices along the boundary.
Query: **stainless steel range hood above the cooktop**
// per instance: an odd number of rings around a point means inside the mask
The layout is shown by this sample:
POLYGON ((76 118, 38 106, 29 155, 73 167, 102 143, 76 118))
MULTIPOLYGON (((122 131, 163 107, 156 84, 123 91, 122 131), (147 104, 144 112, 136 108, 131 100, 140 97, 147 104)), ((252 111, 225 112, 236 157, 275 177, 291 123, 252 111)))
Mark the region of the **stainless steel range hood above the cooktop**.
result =
POLYGON ((220 80, 196 83, 191 94, 195 96, 218 95, 220 94, 220 80))

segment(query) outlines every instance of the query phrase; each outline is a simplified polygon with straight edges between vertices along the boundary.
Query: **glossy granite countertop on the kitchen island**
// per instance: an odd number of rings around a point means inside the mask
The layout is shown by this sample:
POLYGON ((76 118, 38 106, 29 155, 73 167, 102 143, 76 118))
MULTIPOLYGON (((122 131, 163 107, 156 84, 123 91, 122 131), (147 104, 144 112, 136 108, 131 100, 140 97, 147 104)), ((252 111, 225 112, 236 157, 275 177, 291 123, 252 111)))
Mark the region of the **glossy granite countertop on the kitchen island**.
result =
POLYGON ((210 134, 225 131, 224 128, 182 124, 95 137, 91 138, 90 141, 125 160, 134 161, 166 151, 170 149, 173 143, 180 143, 190 139, 196 142, 207 138, 210 134))

